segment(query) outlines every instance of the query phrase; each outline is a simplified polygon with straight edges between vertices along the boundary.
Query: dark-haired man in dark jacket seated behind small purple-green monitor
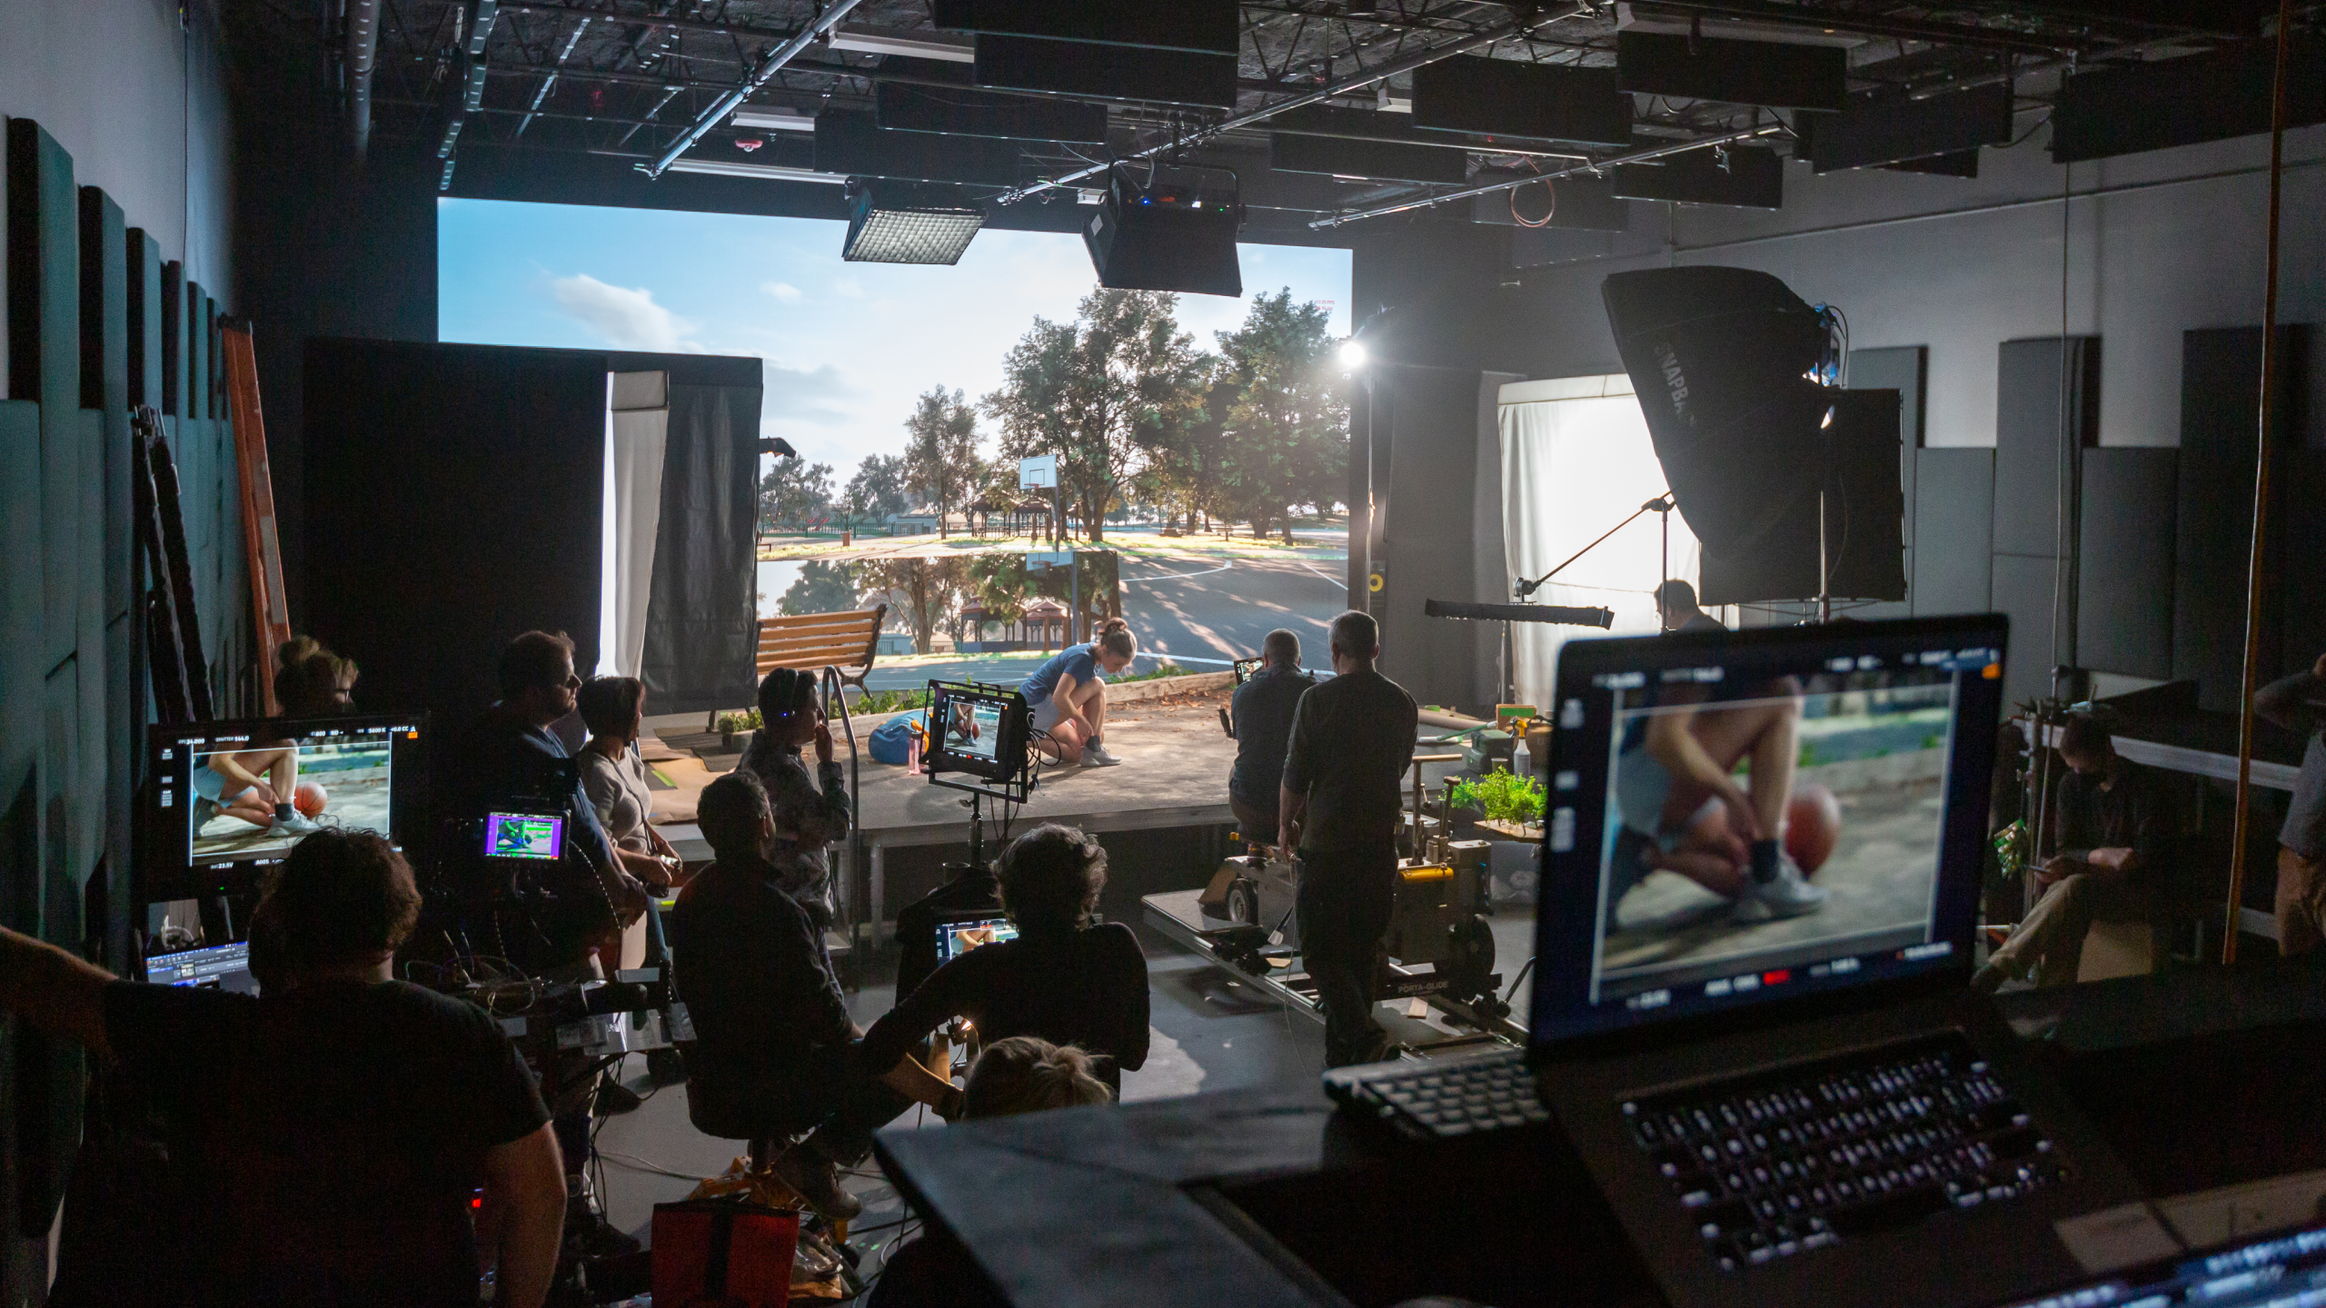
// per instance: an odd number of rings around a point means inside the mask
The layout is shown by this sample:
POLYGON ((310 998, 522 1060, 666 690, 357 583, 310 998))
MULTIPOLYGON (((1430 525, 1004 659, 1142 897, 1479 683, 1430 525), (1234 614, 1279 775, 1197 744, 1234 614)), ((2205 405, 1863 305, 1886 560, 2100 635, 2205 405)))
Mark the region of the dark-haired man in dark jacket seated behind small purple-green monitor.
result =
MULTIPOLYGON (((500 652, 500 701, 456 742, 437 768, 440 812, 461 831, 461 859, 470 877, 495 898, 498 940, 472 940, 479 952, 498 952, 519 968, 561 982, 595 978, 600 945, 621 940, 621 929, 647 912, 647 889, 621 870, 614 847, 598 824, 598 808, 582 791, 579 766, 547 728, 575 710, 575 645, 563 633, 528 631, 500 652), (486 812, 521 808, 565 817, 565 852, 523 873, 484 870, 481 847, 465 845, 486 812)), ((477 889, 472 884, 472 889, 477 889)), ((579 1059, 572 1059, 579 1064, 579 1059)), ((572 1199, 570 1234, 588 1252, 628 1252, 635 1241, 605 1224, 588 1199, 591 1080, 577 1066, 561 1066, 551 1087, 558 1143, 565 1147, 565 1180, 572 1199)))

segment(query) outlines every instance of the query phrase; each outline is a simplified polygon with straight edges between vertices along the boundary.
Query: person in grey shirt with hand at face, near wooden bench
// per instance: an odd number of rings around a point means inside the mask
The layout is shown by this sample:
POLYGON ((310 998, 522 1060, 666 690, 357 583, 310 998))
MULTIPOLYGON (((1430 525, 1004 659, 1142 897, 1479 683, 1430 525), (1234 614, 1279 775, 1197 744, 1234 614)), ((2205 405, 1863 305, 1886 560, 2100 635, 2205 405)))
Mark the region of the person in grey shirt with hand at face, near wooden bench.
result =
POLYGON ((833 924, 833 873, 823 847, 849 833, 849 784, 833 761, 833 726, 816 708, 816 675, 775 668, 758 682, 758 731, 742 752, 740 770, 758 777, 775 812, 768 861, 777 880, 816 929, 833 924), (800 747, 816 747, 816 775, 807 775, 800 747))

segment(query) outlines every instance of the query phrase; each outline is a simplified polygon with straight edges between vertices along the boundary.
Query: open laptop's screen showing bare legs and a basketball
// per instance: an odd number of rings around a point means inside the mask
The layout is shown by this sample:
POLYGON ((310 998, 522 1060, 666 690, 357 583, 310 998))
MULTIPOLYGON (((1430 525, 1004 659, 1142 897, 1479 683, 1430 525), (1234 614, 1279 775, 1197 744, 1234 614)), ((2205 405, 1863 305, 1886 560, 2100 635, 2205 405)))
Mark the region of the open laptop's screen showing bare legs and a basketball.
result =
POLYGON ((1533 1045, 1963 968, 2003 617, 1570 640, 1533 1045))

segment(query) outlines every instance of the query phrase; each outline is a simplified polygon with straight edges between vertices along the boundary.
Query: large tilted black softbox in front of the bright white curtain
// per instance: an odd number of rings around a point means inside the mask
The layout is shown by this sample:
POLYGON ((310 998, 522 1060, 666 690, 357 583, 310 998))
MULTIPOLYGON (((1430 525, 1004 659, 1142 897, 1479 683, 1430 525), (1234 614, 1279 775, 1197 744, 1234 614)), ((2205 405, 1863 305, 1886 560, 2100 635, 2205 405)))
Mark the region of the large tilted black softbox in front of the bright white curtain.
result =
POLYGON ((1751 549, 1817 482, 1817 310, 1749 268, 1649 268, 1600 286, 1656 461, 1705 554, 1751 549))

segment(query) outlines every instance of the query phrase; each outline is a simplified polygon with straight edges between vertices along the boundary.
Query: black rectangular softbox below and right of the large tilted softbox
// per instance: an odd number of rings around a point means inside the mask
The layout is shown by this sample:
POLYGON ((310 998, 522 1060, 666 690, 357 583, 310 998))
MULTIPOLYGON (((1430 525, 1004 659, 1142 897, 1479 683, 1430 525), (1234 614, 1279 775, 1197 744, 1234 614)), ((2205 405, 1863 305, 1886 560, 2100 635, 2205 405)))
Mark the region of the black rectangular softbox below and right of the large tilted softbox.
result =
POLYGON ((1898 391, 1824 391, 1833 421, 1819 428, 1810 491, 1751 549, 1705 554, 1707 605, 1905 598, 1905 491, 1898 477, 1898 391), (1824 507, 1824 535, 1819 535, 1824 507))

